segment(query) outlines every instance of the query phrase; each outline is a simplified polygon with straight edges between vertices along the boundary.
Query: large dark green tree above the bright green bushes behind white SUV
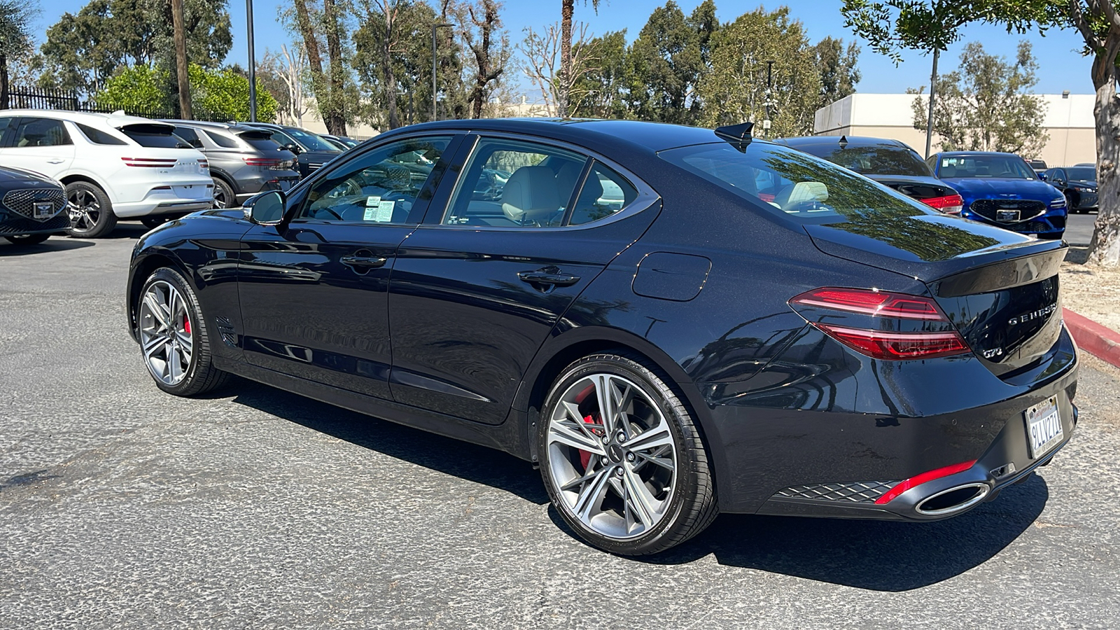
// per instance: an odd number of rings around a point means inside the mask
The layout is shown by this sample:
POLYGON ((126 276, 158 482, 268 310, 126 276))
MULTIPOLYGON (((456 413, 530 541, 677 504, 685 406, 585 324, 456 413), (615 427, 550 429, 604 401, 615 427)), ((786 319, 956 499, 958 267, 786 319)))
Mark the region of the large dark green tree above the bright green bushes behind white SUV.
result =
MULTIPOLYGON (((184 0, 187 58, 217 67, 233 45, 227 0, 184 0)), ((40 84, 92 93, 122 65, 174 70, 170 3, 166 0, 91 0, 63 13, 40 47, 40 84)), ((174 76, 169 78, 174 84, 174 76)))

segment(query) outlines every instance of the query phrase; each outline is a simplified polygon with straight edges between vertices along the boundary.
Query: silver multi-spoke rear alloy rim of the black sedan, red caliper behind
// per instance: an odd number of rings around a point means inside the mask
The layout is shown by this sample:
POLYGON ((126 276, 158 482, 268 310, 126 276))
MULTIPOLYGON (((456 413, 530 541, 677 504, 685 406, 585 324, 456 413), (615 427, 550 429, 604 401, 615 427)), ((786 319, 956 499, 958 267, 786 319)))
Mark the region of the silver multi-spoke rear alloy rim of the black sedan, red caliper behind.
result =
POLYGON ((676 447, 664 414, 623 377, 588 374, 549 419, 548 465, 557 495, 586 527, 614 539, 648 532, 676 484, 676 447))

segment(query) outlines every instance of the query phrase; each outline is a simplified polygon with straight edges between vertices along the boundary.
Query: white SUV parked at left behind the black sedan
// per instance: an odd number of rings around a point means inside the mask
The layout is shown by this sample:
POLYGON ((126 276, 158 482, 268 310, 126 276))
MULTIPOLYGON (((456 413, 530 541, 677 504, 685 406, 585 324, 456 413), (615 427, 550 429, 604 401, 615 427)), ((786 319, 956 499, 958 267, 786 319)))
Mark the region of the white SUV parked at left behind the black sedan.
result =
MULTIPOLYGON (((108 234, 116 219, 181 215, 211 207, 205 156, 147 118, 55 110, 0 115, 0 166, 66 186, 72 237, 108 234)), ((146 221, 147 223, 147 221, 146 221)))

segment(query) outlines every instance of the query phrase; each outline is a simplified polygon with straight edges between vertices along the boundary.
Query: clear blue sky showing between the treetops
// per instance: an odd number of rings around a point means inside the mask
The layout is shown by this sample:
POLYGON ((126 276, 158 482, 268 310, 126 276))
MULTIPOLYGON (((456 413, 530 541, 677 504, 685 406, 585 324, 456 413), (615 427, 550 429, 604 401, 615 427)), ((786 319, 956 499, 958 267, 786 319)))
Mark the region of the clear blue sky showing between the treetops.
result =
MULTIPOLYGON (((50 0, 46 2, 38 20, 38 39, 41 43, 43 33, 57 21, 64 12, 77 12, 87 0, 50 0)), ((678 0, 678 4, 690 12, 701 0, 678 0)), ((253 12, 255 22, 256 58, 260 59, 265 48, 279 50, 280 45, 291 40, 291 36, 277 20, 280 6, 288 6, 290 0, 254 0, 253 12)), ((717 0, 718 16, 721 21, 729 21, 739 15, 754 10, 763 4, 774 9, 782 4, 791 8, 791 15, 805 25, 811 41, 825 36, 841 37, 846 41, 852 39, 851 33, 844 28, 840 16, 840 0, 786 0, 784 2, 765 0, 717 0)), ((633 40, 645 25, 650 12, 663 2, 643 0, 600 0, 598 13, 590 2, 586 4, 577 0, 576 19, 591 24, 596 35, 608 30, 626 29, 629 40, 633 40)), ((245 38, 245 1, 231 0, 230 13, 233 20, 233 49, 226 62, 245 65, 249 54, 245 38)), ((525 27, 540 28, 560 18, 560 0, 505 0, 502 19, 510 30, 511 39, 516 43, 525 27), (551 7, 551 10, 549 8, 551 7)), ((968 41, 979 40, 991 54, 998 54, 1011 59, 1020 39, 1029 39, 1034 44, 1035 56, 1038 59, 1037 93, 1055 94, 1068 90, 1074 94, 1091 94, 1093 84, 1089 76, 1090 61, 1081 56, 1080 37, 1072 30, 1052 30, 1046 37, 1037 33, 1027 35, 1008 34, 998 26, 974 25, 964 29, 964 37, 948 53, 942 54, 940 70, 951 71, 956 67, 961 50, 968 41)), ((857 85, 860 92, 900 93, 906 87, 917 87, 930 82, 930 57, 909 53, 897 67, 886 57, 871 50, 866 41, 860 41, 862 52, 859 57, 859 70, 864 77, 857 85)), ((533 100, 533 92, 529 99, 533 100)))

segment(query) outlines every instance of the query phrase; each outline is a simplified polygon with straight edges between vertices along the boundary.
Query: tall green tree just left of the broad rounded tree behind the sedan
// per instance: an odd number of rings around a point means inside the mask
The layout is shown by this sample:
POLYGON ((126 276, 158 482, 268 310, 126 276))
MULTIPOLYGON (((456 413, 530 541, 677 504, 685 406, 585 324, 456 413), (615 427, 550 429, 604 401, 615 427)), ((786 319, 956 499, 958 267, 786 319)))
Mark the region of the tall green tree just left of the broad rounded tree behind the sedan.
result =
POLYGON ((634 115, 683 124, 700 120, 698 85, 715 59, 720 31, 712 0, 689 17, 672 0, 654 9, 627 55, 627 104, 634 115))

